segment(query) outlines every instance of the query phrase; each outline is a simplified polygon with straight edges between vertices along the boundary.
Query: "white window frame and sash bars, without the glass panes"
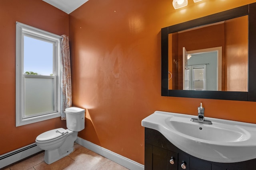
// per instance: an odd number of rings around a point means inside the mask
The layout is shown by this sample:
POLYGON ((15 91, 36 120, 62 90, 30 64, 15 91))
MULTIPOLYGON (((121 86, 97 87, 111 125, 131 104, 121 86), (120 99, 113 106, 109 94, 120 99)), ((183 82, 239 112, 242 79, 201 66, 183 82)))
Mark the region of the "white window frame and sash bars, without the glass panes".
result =
POLYGON ((60 81, 61 81, 61 58, 60 36, 47 31, 16 22, 16 127, 60 117, 60 81), (53 76, 26 75, 23 70, 24 62, 24 35, 48 41, 55 44, 53 76), (54 111, 25 117, 24 80, 29 78, 53 78, 54 79, 54 111))

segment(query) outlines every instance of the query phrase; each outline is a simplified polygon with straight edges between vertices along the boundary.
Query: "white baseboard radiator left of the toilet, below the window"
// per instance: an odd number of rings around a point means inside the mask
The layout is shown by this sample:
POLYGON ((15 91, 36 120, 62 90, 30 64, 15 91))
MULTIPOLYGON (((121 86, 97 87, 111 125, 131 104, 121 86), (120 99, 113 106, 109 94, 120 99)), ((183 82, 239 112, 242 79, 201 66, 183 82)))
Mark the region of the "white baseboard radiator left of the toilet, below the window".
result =
POLYGON ((42 151, 36 143, 0 155, 0 169, 42 151))

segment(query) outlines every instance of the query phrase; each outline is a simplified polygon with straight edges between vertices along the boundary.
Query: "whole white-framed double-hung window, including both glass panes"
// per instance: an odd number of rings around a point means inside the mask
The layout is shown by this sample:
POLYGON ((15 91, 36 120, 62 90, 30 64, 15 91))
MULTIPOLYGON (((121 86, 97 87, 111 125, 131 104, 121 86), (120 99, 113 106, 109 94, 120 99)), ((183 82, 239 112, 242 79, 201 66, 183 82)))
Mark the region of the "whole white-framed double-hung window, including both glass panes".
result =
POLYGON ((60 36, 16 22, 16 126, 60 116, 60 36))

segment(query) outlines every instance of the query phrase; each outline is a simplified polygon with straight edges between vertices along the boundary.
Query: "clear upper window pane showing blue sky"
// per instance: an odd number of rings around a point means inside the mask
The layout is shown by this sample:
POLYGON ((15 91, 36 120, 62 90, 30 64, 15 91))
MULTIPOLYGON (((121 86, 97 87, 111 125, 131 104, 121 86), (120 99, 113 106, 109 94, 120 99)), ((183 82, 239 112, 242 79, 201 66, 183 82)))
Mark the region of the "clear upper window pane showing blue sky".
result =
POLYGON ((24 74, 50 76, 53 70, 53 43, 24 36, 24 74))

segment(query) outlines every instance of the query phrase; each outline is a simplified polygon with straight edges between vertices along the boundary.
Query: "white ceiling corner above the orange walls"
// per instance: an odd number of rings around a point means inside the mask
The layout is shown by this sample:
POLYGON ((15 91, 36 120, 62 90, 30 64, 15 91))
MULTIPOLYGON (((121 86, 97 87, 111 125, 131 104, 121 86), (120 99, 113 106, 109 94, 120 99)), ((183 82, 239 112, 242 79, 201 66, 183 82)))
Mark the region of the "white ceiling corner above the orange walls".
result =
POLYGON ((88 0, 43 0, 52 6, 70 14, 88 0))

